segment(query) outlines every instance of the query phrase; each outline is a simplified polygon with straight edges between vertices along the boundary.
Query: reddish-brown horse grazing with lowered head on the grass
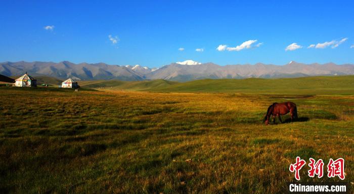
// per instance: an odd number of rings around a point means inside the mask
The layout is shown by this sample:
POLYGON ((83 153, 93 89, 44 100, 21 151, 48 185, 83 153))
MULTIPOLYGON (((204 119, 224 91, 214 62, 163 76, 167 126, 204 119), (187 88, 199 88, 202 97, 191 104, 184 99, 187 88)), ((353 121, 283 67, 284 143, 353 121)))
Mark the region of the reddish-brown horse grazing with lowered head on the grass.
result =
POLYGON ((284 115, 290 112, 291 115, 291 122, 293 119, 297 119, 297 109, 296 109, 296 104, 293 102, 283 102, 283 103, 277 103, 274 102, 272 105, 269 106, 267 110, 267 114, 265 114, 264 121, 265 125, 269 124, 269 119, 273 115, 273 123, 275 123, 275 117, 279 117, 279 121, 281 123, 282 119, 280 118, 280 115, 284 115))

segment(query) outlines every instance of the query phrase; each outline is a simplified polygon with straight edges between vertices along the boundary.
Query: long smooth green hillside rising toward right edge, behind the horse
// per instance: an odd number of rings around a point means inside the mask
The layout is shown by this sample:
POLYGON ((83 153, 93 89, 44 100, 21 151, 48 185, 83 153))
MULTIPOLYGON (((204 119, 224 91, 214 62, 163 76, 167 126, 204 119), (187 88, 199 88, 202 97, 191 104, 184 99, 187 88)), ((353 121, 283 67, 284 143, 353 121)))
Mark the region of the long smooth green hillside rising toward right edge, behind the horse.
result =
POLYGON ((354 94, 354 76, 315 76, 283 79, 197 80, 145 89, 153 92, 286 92, 333 91, 354 94))

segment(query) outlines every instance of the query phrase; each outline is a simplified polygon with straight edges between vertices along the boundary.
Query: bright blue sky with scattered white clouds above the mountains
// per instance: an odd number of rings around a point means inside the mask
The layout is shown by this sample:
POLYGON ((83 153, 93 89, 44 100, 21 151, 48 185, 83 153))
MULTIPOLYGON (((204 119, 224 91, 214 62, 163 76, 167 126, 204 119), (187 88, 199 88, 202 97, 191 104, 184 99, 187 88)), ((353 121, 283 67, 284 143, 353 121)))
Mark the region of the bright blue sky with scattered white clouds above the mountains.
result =
POLYGON ((2 1, 1 8, 0 61, 354 63, 353 1, 2 1))

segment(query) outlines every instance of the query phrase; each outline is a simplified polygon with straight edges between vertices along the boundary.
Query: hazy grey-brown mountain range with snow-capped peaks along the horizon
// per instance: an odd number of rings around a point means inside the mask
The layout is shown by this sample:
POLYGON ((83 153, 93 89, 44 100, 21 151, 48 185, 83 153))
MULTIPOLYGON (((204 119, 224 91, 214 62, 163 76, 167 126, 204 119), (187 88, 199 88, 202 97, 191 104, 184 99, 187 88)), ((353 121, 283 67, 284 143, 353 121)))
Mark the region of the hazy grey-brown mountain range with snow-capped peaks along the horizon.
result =
POLYGON ((285 65, 256 63, 254 65, 226 65, 199 63, 192 60, 171 63, 160 68, 140 65, 119 66, 105 63, 55 62, 2 62, 0 74, 17 76, 25 72, 32 76, 52 76, 58 79, 71 77, 75 80, 170 80, 186 82, 200 79, 243 79, 248 77, 278 78, 315 75, 352 75, 353 64, 335 63, 303 64, 291 61, 285 65))

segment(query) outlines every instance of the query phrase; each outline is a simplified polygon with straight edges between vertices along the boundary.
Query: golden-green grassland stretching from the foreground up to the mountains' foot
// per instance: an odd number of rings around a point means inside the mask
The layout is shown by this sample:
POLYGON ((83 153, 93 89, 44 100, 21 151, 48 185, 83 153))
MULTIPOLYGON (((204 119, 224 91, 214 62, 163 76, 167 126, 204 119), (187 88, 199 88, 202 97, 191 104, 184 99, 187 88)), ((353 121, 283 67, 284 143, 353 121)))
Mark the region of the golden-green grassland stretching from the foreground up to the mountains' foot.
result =
MULTIPOLYGON (((0 190, 284 193, 296 156, 345 159, 353 190, 353 76, 287 80, 130 83, 153 92, 1 87, 0 190), (264 126, 268 106, 289 100, 301 121, 264 126)), ((309 178, 307 164, 302 181, 339 180, 309 178)))

